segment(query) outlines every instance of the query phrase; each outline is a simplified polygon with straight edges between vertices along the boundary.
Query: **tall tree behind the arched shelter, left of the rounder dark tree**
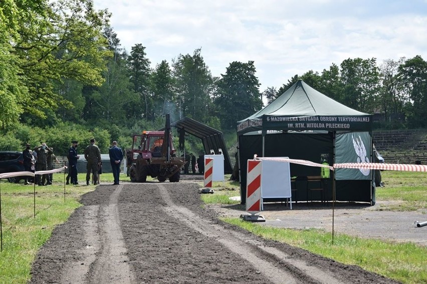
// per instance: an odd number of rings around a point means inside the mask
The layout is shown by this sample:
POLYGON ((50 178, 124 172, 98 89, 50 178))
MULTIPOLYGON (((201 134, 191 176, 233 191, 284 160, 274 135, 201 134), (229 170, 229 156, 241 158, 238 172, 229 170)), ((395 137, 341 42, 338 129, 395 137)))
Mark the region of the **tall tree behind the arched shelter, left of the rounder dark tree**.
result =
POLYGON ((180 113, 205 121, 213 78, 201 56, 201 48, 195 49, 193 55, 180 54, 172 64, 180 113))

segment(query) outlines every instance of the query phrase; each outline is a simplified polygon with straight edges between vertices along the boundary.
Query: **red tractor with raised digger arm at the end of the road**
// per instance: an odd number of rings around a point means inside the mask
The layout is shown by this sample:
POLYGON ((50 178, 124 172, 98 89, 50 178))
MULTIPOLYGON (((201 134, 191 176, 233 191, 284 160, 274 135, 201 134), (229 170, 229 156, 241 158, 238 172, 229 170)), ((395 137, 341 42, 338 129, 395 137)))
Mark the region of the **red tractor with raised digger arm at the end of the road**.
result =
POLYGON ((164 131, 143 131, 133 135, 132 150, 126 152, 130 180, 145 182, 150 175, 159 181, 169 178, 170 182, 178 182, 185 160, 177 157, 175 152, 170 118, 166 114, 164 131))

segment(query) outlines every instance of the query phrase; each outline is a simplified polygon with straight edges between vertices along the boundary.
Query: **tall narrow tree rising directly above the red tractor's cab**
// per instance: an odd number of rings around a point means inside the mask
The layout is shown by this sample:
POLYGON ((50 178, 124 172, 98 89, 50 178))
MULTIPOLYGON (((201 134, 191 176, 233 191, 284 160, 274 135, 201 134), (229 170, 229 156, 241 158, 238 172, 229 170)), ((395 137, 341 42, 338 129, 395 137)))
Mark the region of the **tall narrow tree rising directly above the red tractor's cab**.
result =
POLYGON ((154 120, 154 98, 149 86, 150 60, 146 55, 145 46, 138 43, 131 47, 127 57, 130 82, 133 83, 133 91, 138 95, 137 101, 127 104, 127 113, 129 117, 154 120))

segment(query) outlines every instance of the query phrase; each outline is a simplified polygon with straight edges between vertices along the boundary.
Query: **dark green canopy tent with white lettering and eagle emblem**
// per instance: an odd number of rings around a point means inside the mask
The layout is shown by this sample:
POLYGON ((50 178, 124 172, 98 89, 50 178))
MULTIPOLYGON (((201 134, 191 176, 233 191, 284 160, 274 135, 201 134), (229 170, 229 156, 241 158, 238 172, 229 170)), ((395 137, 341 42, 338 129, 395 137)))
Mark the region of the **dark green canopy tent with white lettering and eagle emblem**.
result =
MULTIPOLYGON (((264 157, 287 156, 329 164, 372 161, 372 115, 349 108, 303 80, 253 115, 238 121, 241 200, 246 203, 247 160, 254 154, 264 157), (323 159, 323 160, 321 160, 323 159)), ((291 163, 291 176, 320 175, 319 167, 291 163)), ((375 203, 370 170, 336 169, 326 182, 325 199, 375 203)), ((301 186, 293 200, 307 200, 301 186)), ((264 200, 269 201, 269 200, 264 200)), ((276 201, 276 200, 271 200, 276 201)))

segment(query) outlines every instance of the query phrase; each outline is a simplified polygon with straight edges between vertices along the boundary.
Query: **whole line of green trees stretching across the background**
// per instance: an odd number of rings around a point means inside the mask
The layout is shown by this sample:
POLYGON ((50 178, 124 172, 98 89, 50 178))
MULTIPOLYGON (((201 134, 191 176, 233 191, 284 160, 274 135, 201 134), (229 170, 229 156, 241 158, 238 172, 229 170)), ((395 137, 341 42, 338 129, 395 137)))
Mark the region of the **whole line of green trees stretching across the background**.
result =
POLYGON ((8 148, 38 143, 42 134, 59 147, 71 134, 126 144, 131 133, 162 127, 166 113, 233 130, 263 107, 263 97, 271 102, 300 78, 349 107, 381 113, 382 126, 426 126, 420 55, 380 65, 348 58, 260 91, 254 61, 231 62, 212 76, 201 47, 151 68, 142 43, 121 47, 110 17, 93 0, 0 2, 0 128, 8 137, 0 140, 8 148))

